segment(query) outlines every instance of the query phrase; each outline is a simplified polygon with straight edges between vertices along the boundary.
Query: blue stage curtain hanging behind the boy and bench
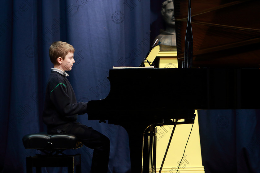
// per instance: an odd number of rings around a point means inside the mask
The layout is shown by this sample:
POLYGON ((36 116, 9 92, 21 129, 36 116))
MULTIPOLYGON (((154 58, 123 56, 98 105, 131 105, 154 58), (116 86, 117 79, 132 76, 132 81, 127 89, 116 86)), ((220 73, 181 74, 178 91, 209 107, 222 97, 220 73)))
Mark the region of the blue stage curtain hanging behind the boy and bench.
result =
MULTIPOLYGON (((69 72, 78 101, 105 98, 106 78, 113 66, 138 66, 150 47, 150 1, 120 0, 4 0, 0 11, 1 116, 0 172, 26 172, 25 134, 46 132, 42 123, 44 93, 53 65, 49 47, 66 41, 75 48, 69 72)), ((129 117, 131 118, 131 117, 129 117)), ((109 137, 109 172, 130 169, 128 134, 124 128, 78 121, 109 137)), ((142 144, 140 144, 142 145, 142 144)), ((82 147, 82 172, 89 172, 93 150, 82 147)), ((46 168, 43 172, 66 172, 46 168), (49 170, 49 171, 48 171, 49 170)))

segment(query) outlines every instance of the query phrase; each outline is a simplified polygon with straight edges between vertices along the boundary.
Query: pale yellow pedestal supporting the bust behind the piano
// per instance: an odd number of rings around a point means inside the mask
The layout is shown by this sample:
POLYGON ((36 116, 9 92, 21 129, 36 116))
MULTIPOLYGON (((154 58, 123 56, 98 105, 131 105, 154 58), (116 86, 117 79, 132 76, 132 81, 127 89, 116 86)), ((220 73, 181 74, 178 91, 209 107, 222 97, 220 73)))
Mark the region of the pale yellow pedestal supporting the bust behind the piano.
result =
MULTIPOLYGON (((178 68, 176 52, 159 52, 159 68, 178 68)), ((174 112, 173 112, 174 113, 174 112)), ((197 115, 197 110, 195 112, 197 115)), ((167 157, 163 164, 162 173, 204 173, 204 167, 201 161, 201 147, 199 136, 198 116, 195 117, 195 123, 189 137, 189 141, 184 153, 184 148, 191 131, 192 124, 179 124, 176 126, 167 157), (184 157, 180 162, 184 153, 184 157)), ((159 172, 163 156, 165 154, 173 125, 158 126, 156 128, 156 172, 159 172)))

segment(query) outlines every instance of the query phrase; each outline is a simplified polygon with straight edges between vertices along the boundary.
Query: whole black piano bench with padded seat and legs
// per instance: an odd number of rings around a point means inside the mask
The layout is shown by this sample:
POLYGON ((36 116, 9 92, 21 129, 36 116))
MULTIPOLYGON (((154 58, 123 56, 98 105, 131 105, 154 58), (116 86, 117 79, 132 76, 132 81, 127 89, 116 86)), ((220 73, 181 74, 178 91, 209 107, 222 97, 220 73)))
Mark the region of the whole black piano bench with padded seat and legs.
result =
POLYGON ((46 134, 34 133, 23 137, 25 149, 37 149, 45 154, 36 154, 26 157, 26 172, 32 173, 33 167, 36 173, 41 173, 41 167, 68 167, 68 173, 81 173, 81 155, 66 155, 67 149, 82 147, 82 143, 72 134, 46 134))

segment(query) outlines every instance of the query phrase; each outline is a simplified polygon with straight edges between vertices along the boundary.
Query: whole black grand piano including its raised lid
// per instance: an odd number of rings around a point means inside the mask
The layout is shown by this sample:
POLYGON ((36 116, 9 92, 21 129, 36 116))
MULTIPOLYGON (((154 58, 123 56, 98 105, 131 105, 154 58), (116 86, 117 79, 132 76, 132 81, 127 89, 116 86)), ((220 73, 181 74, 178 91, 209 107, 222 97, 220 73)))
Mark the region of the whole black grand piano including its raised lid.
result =
MULTIPOLYGON (((181 67, 189 2, 175 0, 174 7, 181 67)), ((192 122, 195 109, 260 108, 259 9, 258 0, 192 0, 191 68, 109 70, 110 92, 88 102, 89 120, 108 120, 126 129, 132 172, 141 173, 142 163, 142 172, 148 172, 142 142, 150 125, 171 119, 192 122)))

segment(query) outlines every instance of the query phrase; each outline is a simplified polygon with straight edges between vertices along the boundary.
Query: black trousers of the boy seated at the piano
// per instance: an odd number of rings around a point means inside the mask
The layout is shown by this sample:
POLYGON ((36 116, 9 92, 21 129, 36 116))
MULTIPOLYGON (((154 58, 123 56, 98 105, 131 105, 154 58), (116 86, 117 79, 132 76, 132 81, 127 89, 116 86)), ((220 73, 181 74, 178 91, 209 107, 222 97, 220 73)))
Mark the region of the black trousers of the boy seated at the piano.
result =
POLYGON ((85 146, 94 149, 90 172, 107 173, 110 152, 108 137, 76 121, 48 129, 48 133, 68 133, 75 135, 85 146))

